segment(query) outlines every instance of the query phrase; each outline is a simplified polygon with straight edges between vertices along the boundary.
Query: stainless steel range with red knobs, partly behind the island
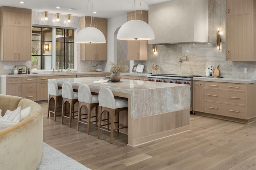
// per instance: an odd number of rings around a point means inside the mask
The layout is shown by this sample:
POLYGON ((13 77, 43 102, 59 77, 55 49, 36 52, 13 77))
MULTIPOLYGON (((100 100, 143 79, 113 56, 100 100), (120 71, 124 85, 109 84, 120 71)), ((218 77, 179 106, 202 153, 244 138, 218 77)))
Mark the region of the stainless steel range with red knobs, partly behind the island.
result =
POLYGON ((193 111, 193 77, 202 76, 182 74, 151 74, 148 76, 148 81, 190 85, 190 111, 193 111))

